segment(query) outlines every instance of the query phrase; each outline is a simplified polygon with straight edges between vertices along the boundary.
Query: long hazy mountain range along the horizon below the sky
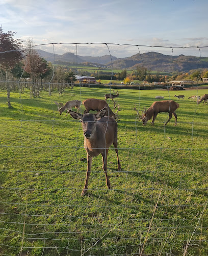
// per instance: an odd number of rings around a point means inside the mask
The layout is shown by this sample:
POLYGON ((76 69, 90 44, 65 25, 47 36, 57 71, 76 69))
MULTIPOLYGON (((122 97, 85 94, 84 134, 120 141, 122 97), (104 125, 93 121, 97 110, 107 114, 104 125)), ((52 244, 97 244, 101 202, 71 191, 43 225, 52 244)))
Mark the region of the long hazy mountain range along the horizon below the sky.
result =
POLYGON ((84 63, 90 62, 94 64, 107 65, 112 67, 111 58, 114 69, 136 69, 137 65, 143 65, 148 70, 154 71, 184 71, 188 72, 191 69, 208 68, 208 58, 196 56, 171 56, 155 52, 148 52, 144 54, 135 54, 127 58, 116 58, 115 56, 105 55, 101 57, 79 56, 72 53, 65 53, 63 55, 47 53, 44 50, 37 50, 41 57, 47 61, 55 62, 62 61, 66 63, 84 63))

